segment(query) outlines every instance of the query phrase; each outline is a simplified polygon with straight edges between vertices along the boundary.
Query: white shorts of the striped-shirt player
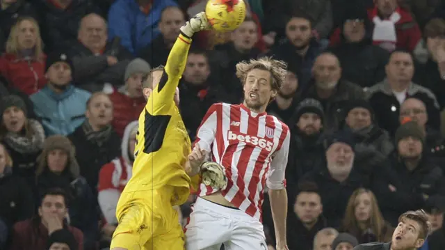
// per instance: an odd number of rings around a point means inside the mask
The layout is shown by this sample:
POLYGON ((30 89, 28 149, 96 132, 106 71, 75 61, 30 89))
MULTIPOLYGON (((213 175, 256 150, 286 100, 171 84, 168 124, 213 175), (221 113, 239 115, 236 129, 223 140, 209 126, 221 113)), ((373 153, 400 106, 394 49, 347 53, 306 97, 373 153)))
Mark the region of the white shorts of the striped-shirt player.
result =
POLYGON ((245 212, 197 198, 186 225, 187 250, 267 250, 263 224, 245 212))

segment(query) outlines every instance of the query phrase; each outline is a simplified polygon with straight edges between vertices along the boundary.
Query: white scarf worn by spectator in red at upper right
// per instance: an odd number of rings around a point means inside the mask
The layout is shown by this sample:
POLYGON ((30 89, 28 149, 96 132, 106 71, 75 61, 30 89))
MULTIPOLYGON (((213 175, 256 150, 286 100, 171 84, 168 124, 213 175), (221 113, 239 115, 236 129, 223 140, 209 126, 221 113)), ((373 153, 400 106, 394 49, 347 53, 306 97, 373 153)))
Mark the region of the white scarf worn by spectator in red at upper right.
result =
POLYGON ((373 43, 387 49, 389 52, 396 49, 396 23, 401 19, 399 11, 397 8, 387 19, 380 19, 377 8, 373 10, 372 14, 374 22, 373 43))

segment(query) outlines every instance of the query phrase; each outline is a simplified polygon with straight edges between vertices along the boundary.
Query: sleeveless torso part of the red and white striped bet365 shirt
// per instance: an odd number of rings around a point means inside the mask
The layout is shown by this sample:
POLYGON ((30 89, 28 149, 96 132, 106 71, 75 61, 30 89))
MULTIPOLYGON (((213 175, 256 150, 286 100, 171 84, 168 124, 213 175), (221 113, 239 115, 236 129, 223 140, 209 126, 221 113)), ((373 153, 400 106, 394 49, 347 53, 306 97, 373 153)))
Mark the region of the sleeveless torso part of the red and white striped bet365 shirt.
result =
MULTIPOLYGON (((225 166, 228 184, 222 194, 243 210, 261 200, 270 162, 285 133, 274 116, 252 114, 240 105, 222 104, 220 109, 213 159, 225 166)), ((206 187, 200 195, 214 192, 206 187)))

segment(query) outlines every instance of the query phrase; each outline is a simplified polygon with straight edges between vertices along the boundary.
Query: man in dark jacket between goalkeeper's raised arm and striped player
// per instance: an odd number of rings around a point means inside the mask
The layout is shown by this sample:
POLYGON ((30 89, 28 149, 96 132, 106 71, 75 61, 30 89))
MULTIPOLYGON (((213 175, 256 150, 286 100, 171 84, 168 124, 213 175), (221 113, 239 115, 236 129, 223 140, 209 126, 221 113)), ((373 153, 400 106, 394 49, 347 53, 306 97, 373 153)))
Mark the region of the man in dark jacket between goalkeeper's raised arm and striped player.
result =
POLYGON ((179 107, 192 141, 211 104, 227 98, 218 84, 211 84, 211 73, 206 52, 200 49, 188 52, 186 69, 179 84, 179 107))

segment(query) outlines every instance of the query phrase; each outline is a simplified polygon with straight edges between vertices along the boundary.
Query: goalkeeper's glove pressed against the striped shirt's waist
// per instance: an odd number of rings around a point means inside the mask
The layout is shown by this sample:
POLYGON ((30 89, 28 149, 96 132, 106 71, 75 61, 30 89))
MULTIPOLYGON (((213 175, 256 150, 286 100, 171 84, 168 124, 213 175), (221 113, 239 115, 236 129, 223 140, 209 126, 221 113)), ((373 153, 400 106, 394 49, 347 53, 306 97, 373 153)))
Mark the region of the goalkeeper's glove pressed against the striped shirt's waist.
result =
POLYGON ((204 185, 216 189, 225 189, 227 187, 224 168, 216 162, 204 162, 201 165, 201 177, 204 185))

